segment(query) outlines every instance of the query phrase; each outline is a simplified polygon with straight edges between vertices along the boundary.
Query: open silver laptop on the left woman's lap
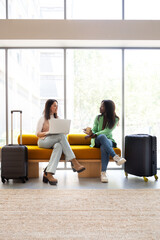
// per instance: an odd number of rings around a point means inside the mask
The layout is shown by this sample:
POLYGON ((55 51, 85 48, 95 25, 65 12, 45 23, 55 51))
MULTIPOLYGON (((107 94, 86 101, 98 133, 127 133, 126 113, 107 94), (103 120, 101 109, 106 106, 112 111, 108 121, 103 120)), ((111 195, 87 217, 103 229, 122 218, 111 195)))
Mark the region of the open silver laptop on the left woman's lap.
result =
POLYGON ((51 118, 49 120, 49 134, 68 134, 71 120, 51 118))

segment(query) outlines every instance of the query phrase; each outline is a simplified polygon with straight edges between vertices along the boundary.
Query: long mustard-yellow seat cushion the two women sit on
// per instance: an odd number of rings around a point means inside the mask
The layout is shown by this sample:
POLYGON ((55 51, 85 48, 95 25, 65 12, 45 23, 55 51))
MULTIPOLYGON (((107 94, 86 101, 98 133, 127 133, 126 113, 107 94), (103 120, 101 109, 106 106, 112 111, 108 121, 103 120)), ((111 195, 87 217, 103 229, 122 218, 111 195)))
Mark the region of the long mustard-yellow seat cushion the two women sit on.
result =
MULTIPOLYGON (((38 146, 28 145, 28 159, 50 159, 53 149, 39 148, 38 146)), ((100 159, 99 148, 91 148, 88 145, 71 146, 77 159, 100 159)), ((119 148, 114 148, 116 154, 121 155, 119 148)))

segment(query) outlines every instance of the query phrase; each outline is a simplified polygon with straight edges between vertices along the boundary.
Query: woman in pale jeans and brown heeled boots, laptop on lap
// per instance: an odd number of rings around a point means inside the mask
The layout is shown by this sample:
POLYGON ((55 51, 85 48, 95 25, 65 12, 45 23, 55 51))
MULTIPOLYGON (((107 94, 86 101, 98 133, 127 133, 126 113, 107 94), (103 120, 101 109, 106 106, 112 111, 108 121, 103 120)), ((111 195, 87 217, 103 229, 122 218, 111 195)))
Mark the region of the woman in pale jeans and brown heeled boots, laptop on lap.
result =
MULTIPOLYGON (((82 172, 85 170, 77 160, 67 141, 65 134, 52 134, 49 132, 50 120, 58 119, 57 115, 58 102, 55 99, 48 99, 45 104, 43 116, 39 119, 36 129, 36 135, 38 137, 38 146, 40 148, 53 148, 49 164, 44 170, 43 182, 50 183, 51 185, 57 184, 57 179, 53 177, 56 172, 59 160, 62 152, 65 155, 65 160, 71 162, 71 166, 74 172, 82 172)), ((54 128, 54 126, 52 126, 54 128)))

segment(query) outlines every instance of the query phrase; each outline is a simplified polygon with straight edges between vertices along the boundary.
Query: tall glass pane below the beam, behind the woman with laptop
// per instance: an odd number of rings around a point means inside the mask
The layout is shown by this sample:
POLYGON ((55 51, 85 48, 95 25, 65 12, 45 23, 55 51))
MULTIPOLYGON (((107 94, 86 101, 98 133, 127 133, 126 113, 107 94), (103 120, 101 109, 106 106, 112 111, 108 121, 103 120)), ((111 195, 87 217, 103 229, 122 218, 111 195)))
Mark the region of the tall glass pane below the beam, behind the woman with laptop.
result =
MULTIPOLYGON (((62 63, 63 50, 9 50, 9 120, 12 109, 22 110, 23 133, 35 133, 37 121, 43 113, 44 104, 48 98, 58 100, 59 115, 63 117, 62 63), (48 79, 48 76, 50 79, 48 79), (58 91, 59 85, 62 86, 61 91, 58 91)), ((15 114, 15 142, 17 141, 18 134, 19 116, 15 114)))

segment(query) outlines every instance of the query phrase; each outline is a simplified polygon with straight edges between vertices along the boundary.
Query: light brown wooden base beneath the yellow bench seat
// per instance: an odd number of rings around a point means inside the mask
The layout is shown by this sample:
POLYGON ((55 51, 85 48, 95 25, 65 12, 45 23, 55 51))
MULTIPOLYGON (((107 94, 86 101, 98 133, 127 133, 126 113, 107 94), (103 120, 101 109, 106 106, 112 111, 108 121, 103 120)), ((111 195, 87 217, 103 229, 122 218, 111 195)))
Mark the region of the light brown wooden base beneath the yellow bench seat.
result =
MULTIPOLYGON (((64 160, 61 160, 64 162, 64 160)), ((79 178, 98 178, 101 174, 101 160, 100 159, 78 159, 86 169, 78 173, 79 178)), ((110 159, 112 161, 112 159, 110 159)), ((29 160, 28 161, 28 178, 39 178, 39 162, 48 162, 47 159, 29 160)))

